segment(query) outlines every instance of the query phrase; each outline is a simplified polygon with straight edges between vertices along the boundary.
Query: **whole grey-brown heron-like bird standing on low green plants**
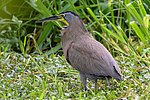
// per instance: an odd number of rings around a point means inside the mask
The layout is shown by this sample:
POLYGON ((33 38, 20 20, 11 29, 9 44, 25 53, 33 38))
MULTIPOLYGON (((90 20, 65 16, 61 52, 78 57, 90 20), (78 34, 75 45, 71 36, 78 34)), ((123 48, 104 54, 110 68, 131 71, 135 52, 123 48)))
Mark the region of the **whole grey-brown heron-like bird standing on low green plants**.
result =
POLYGON ((97 88, 97 80, 123 80, 121 69, 110 52, 88 32, 80 16, 73 11, 62 12, 39 20, 61 21, 66 26, 61 30, 61 45, 67 62, 80 74, 84 90, 87 80, 93 80, 97 88))

